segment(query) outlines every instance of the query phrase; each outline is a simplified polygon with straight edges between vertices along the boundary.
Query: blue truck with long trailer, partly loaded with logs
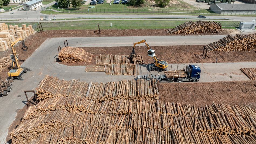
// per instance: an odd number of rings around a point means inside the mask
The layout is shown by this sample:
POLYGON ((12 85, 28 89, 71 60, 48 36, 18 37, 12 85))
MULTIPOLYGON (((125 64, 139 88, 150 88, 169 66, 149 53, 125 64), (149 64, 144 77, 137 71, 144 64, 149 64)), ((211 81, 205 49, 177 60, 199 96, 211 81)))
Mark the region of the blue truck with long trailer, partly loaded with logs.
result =
POLYGON ((192 81, 196 82, 200 79, 201 68, 197 65, 189 64, 186 66, 186 69, 183 70, 170 70, 164 71, 164 74, 145 74, 138 75, 138 79, 156 79, 160 82, 173 82, 176 81, 181 83, 183 81, 192 81))

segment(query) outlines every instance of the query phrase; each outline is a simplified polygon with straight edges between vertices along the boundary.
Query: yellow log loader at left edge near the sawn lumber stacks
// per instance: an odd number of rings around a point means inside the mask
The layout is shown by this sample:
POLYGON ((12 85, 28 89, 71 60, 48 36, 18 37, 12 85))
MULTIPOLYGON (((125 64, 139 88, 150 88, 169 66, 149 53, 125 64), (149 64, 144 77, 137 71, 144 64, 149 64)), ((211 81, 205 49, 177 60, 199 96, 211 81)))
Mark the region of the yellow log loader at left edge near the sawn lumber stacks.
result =
POLYGON ((11 55, 11 70, 8 72, 9 78, 16 78, 22 80, 22 75, 26 73, 27 71, 30 71, 27 67, 21 67, 18 63, 19 57, 16 53, 15 44, 19 41, 22 41, 22 47, 21 49, 23 51, 27 51, 28 47, 25 45, 25 42, 22 38, 18 38, 14 42, 11 43, 12 48, 12 55, 11 55))

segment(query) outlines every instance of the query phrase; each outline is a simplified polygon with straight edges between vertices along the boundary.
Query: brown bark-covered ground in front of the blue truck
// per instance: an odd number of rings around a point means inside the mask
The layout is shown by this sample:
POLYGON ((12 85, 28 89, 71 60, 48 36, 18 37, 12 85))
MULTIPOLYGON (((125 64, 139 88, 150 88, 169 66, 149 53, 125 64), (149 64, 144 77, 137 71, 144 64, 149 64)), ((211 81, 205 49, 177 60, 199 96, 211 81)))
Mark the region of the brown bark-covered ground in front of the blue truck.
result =
POLYGON ((232 81, 215 83, 161 83, 159 99, 165 102, 203 106, 223 103, 244 104, 256 107, 256 81, 232 81))

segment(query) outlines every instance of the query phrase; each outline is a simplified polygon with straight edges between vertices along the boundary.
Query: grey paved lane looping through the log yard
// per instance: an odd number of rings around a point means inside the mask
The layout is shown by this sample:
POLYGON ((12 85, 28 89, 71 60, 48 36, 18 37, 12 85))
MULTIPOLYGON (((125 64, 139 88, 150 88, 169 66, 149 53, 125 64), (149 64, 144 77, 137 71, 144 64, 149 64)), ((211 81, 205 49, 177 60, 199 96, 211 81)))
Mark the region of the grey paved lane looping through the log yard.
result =
MULTIPOLYGON (((0 143, 4 143, 7 136, 8 127, 11 125, 16 116, 16 110, 24 107, 26 98, 25 90, 35 90, 37 84, 42 78, 48 74, 57 76, 60 79, 71 80, 80 79, 85 81, 117 81, 122 79, 133 79, 134 76, 110 76, 101 73, 85 73, 84 66, 66 66, 55 62, 58 54, 57 47, 63 47, 63 41, 68 40, 69 46, 73 47, 100 47, 100 46, 132 46, 133 41, 146 39, 151 46, 163 45, 192 45, 214 42, 223 36, 147 36, 147 37, 124 37, 122 42, 120 37, 63 37, 47 39, 23 64, 32 71, 24 74, 24 80, 15 80, 13 82, 12 91, 8 96, 0 97, 0 143), (210 40, 211 38, 211 40, 210 40), (96 40, 102 39, 102 41, 96 40), (17 97, 22 95, 21 97, 17 97)), ((170 64, 171 65, 171 64, 170 64)), ((169 65, 169 66, 170 66, 169 65)), ((200 82, 213 81, 233 81, 233 80, 249 80, 241 73, 241 67, 255 67, 256 62, 243 63, 204 63, 197 64, 202 69, 200 82)), ((180 64, 179 68, 183 65, 180 64)), ((173 64, 172 68, 177 67, 173 64)), ((145 74, 146 69, 142 65, 141 73, 145 74)), ((30 95, 31 97, 31 95, 30 95)))

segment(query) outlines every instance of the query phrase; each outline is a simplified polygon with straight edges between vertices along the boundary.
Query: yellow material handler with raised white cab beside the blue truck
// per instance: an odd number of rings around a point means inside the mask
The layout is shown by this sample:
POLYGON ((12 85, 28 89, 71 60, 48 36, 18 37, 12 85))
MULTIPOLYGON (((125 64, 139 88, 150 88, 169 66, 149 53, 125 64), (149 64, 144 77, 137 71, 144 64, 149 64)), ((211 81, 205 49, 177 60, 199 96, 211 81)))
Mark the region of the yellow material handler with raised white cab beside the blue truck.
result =
POLYGON ((155 50, 152 50, 146 40, 142 40, 140 42, 134 43, 132 47, 132 52, 130 53, 130 58, 136 57, 137 54, 135 53, 135 46, 140 43, 145 43, 146 48, 148 49, 148 56, 153 57, 154 63, 149 64, 149 69, 154 70, 167 70, 168 62, 158 59, 155 54, 155 50))

